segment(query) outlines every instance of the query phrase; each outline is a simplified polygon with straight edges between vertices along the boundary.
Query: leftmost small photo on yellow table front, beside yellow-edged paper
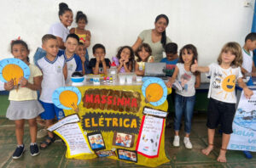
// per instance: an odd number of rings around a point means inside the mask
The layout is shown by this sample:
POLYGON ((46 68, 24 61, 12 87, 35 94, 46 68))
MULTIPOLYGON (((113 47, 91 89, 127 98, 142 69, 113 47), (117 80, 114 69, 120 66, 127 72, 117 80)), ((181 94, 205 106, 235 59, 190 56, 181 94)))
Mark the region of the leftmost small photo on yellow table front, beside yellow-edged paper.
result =
POLYGON ((101 132, 88 133, 87 137, 92 150, 102 150, 106 148, 101 132))

